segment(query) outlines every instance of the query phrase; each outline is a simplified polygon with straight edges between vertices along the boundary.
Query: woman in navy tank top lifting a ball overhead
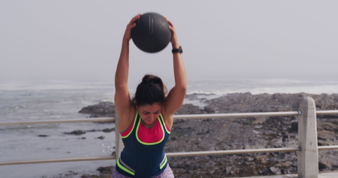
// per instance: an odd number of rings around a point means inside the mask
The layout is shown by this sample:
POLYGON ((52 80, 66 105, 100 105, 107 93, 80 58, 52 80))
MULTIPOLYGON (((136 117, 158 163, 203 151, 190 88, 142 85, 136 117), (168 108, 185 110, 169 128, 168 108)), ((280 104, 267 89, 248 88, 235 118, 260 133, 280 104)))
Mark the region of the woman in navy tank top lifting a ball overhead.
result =
MULTIPOLYGON (((164 154, 164 145, 173 125, 173 114, 182 105, 187 91, 187 77, 180 52, 173 51, 175 86, 166 96, 166 87, 159 77, 145 75, 135 97, 128 92, 129 40, 136 26, 134 17, 123 36, 122 50, 115 73, 115 106, 119 115, 118 129, 124 149, 117 158, 112 177, 174 177, 164 154)), ((173 24, 171 44, 179 44, 173 24)), ((176 50, 177 51, 177 50, 176 50)))

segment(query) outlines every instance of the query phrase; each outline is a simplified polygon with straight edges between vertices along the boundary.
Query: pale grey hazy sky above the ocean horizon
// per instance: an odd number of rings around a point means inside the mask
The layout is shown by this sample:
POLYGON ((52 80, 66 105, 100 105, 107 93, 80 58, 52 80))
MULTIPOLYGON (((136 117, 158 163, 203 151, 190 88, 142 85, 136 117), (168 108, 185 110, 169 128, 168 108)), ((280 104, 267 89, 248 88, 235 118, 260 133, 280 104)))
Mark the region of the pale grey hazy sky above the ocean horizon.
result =
MULTIPOLYGON (((189 79, 335 79, 338 1, 0 1, 0 81, 114 81, 125 27, 157 12, 175 25, 189 79)), ((171 46, 130 41, 129 79, 173 78, 171 46)))

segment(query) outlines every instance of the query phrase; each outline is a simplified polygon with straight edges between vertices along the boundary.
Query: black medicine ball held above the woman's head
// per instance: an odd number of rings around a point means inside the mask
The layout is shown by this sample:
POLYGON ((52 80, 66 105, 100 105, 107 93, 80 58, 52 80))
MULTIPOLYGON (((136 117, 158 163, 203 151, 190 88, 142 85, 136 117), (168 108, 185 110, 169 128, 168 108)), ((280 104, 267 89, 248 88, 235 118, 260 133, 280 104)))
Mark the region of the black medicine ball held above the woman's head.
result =
POLYGON ((131 38, 140 50, 148 53, 159 52, 171 40, 169 23, 158 13, 145 13, 131 29, 131 38))

